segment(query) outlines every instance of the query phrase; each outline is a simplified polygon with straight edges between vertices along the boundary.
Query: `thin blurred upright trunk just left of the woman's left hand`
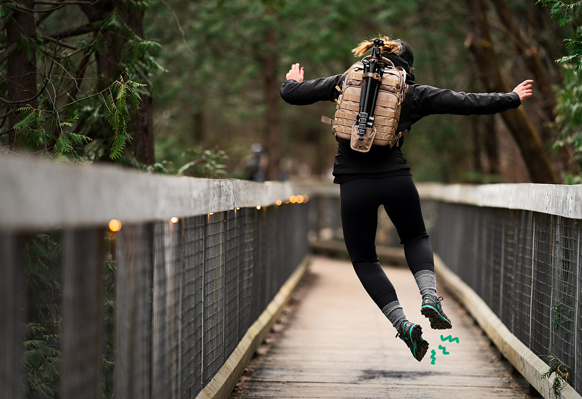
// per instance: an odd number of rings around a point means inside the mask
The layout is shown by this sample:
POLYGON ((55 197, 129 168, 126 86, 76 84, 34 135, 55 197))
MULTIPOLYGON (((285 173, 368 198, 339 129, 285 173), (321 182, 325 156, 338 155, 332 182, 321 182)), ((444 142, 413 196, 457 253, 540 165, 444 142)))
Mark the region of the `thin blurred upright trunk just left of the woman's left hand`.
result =
POLYGON ((264 56, 264 88, 265 102, 267 103, 267 128, 265 137, 265 147, 267 149, 267 178, 276 180, 279 174, 279 160, 281 158, 281 149, 279 146, 279 115, 278 115, 278 96, 276 66, 277 58, 275 55, 275 30, 272 26, 267 28, 265 35, 267 51, 264 56))

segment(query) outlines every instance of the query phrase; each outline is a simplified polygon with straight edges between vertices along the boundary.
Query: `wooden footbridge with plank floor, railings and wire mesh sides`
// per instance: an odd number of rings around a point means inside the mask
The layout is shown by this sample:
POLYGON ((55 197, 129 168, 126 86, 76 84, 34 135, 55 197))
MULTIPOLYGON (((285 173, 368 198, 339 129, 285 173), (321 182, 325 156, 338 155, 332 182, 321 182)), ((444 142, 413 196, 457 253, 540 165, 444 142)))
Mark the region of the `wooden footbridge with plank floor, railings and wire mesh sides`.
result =
POLYGON ((349 262, 310 254, 343 251, 337 186, 0 159, 0 187, 1 398, 581 398, 582 186, 419 185, 453 329, 379 256, 420 363, 349 262))

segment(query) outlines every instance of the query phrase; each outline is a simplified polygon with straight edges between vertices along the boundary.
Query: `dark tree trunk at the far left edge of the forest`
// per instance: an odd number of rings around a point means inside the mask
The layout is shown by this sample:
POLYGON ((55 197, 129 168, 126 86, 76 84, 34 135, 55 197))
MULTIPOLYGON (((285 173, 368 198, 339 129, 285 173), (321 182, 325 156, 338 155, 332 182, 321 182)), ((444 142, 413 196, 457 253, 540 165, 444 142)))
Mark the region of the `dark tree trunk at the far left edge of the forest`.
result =
MULTIPOLYGON (((20 0, 16 3, 22 4, 25 8, 34 8, 34 0, 20 0)), ((16 44, 20 36, 30 42, 36 36, 33 13, 14 8, 12 17, 13 20, 8 17, 6 23, 6 47, 13 43, 16 44)), ((10 128, 20 121, 16 114, 17 109, 27 104, 36 108, 36 99, 31 100, 37 94, 36 76, 36 52, 33 49, 29 56, 26 49, 18 46, 8 57, 6 79, 8 81, 8 98, 16 102, 10 106, 8 115, 10 128)), ((16 131, 10 131, 8 141, 11 150, 14 149, 16 139, 16 131)))

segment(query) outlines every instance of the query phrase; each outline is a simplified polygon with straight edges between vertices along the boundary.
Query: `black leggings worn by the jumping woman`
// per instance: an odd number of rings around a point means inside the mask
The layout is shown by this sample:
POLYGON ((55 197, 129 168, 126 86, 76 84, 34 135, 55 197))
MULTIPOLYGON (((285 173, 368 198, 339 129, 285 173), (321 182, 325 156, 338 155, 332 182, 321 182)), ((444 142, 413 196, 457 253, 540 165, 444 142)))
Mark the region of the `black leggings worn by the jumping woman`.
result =
POLYGON ((431 242, 424 227, 420 197, 411 175, 356 179, 340 185, 343 236, 354 270, 380 309, 398 300, 394 286, 380 267, 376 254, 378 207, 396 227, 404 256, 413 274, 434 272, 431 242))

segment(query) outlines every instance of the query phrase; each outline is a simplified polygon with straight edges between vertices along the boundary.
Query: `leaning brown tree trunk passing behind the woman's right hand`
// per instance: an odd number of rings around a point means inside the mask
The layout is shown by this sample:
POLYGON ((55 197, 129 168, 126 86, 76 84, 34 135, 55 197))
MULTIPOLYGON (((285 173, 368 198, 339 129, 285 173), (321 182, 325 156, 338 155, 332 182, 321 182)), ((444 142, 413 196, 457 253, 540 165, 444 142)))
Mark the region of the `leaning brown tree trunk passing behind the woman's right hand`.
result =
MULTIPOLYGON (((469 9, 469 35, 466 45, 475 56, 478 73, 485 88, 490 92, 511 91, 499 68, 499 62, 489 33, 487 8, 483 0, 466 0, 469 9)), ((556 184, 548 156, 537 132, 520 107, 502 113, 503 120, 516 139, 530 177, 535 183, 556 184)))

